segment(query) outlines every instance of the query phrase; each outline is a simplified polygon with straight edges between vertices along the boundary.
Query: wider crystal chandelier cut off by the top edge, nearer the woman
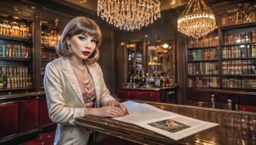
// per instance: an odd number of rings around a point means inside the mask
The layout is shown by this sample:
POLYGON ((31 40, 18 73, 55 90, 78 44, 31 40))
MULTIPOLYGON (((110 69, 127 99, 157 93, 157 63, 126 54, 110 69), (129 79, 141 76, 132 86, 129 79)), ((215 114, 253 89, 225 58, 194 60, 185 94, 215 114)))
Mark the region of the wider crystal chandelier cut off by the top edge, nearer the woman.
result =
POLYGON ((121 30, 139 29, 161 17, 159 0, 98 0, 97 15, 121 30))

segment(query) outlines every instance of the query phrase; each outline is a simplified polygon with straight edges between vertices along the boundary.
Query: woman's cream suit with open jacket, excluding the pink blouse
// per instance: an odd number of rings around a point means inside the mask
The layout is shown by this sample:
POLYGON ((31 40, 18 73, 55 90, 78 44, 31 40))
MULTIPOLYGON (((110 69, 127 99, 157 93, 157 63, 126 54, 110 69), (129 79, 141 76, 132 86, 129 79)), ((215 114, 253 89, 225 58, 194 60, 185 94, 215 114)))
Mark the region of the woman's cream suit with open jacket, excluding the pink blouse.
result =
MULTIPOLYGON (((45 67, 44 88, 49 117, 58 123, 54 144, 86 144, 89 131, 74 124, 84 116, 85 104, 76 75, 67 57, 60 57, 45 67)), ((99 64, 86 64, 95 88, 95 107, 106 106, 109 95, 99 64)))

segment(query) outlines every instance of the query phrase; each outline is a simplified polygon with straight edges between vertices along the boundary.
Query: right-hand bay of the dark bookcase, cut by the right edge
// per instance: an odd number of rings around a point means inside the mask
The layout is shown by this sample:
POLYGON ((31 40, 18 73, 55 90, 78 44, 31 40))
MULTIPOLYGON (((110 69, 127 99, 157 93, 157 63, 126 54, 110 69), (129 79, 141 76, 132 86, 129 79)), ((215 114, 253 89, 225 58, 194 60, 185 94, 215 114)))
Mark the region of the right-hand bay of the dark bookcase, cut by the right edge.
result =
POLYGON ((221 27, 221 84, 225 89, 256 89, 256 22, 221 27))

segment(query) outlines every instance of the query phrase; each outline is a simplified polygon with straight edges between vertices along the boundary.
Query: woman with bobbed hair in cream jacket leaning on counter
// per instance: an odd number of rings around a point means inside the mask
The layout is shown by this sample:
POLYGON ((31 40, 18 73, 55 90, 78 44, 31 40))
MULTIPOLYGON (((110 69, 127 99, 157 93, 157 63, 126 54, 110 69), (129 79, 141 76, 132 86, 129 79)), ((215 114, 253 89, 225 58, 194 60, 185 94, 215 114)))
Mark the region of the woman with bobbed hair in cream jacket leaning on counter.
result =
POLYGON ((109 95, 97 60, 101 32, 86 17, 71 20, 56 52, 61 57, 45 68, 44 87, 49 116, 58 123, 54 144, 86 144, 89 131, 74 124, 83 116, 120 117, 127 112, 109 95))

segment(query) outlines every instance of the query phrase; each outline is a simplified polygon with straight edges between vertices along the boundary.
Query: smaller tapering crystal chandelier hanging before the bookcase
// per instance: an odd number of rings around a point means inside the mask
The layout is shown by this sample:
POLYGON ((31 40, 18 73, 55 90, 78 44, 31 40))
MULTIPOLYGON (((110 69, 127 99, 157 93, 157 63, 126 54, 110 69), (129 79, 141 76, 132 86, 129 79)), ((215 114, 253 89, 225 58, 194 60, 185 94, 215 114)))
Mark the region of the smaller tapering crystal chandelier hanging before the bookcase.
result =
POLYGON ((215 25, 215 16, 204 0, 189 0, 178 18, 178 31, 196 39, 213 31, 215 25))

